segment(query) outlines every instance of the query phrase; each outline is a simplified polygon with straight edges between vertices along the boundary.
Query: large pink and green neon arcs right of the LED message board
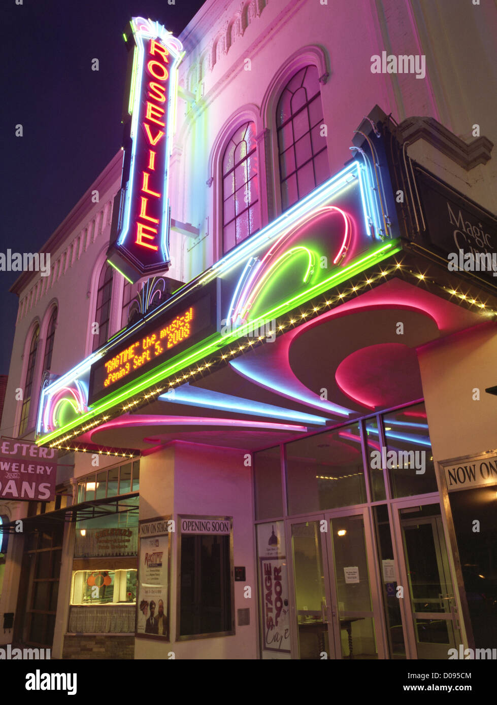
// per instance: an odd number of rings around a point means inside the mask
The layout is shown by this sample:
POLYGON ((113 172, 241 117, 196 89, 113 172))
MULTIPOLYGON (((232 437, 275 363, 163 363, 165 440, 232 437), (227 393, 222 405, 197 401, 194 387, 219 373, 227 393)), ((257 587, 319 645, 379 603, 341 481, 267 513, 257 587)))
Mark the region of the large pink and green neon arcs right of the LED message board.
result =
POLYGON ((240 321, 241 323, 246 323, 251 308, 253 308, 256 299, 261 295, 261 292, 268 283, 268 278, 275 273, 278 267, 284 262, 287 262, 289 257, 301 255, 302 252, 307 253, 309 264, 304 274, 303 283, 309 281, 314 271, 314 259, 311 250, 303 245, 297 245, 289 250, 285 250, 285 246, 302 227, 321 216, 330 214, 330 212, 340 214, 345 226, 342 244, 340 245, 335 259, 333 259, 333 264, 339 262, 340 258, 347 252, 347 246, 352 231, 349 216, 341 208, 337 208, 336 206, 321 207, 305 214, 297 220, 289 230, 280 235, 261 259, 258 259, 258 257, 248 259, 244 271, 236 285, 232 302, 229 306, 227 315, 227 321, 229 321, 229 323, 239 324, 240 321))

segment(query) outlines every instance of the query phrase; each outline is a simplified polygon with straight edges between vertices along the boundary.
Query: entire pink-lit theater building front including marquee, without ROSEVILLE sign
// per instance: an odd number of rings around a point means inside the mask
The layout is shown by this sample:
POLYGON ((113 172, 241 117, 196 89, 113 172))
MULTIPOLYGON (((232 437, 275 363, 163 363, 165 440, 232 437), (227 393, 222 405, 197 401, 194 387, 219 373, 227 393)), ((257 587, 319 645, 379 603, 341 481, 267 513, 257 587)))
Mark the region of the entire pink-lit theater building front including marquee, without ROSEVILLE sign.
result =
POLYGON ((120 151, 13 286, 2 435, 59 465, 53 501, 4 483, 3 643, 493 648, 497 298, 464 255, 497 252, 497 20, 443 5, 209 0, 181 33, 169 270, 107 263, 120 151))

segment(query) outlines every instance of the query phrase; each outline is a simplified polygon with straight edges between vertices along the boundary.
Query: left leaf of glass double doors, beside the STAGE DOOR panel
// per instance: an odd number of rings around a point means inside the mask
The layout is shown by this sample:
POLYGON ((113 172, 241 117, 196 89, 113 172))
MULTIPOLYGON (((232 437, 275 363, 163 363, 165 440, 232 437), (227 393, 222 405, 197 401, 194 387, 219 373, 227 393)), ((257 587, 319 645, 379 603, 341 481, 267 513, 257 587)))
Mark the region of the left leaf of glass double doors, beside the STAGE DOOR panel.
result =
POLYGON ((289 521, 287 526, 294 573, 294 657, 335 658, 324 517, 289 521))

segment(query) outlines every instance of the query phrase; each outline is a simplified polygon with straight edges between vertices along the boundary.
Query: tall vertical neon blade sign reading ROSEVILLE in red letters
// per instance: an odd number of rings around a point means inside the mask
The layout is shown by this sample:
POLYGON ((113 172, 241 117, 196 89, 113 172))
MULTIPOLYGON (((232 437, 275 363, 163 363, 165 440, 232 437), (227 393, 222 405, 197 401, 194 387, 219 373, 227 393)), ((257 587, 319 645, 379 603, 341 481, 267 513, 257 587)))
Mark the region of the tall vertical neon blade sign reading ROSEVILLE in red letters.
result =
POLYGON ((121 190, 114 202, 107 260, 131 281, 168 269, 169 157, 181 42, 151 20, 135 17, 124 120, 121 190))

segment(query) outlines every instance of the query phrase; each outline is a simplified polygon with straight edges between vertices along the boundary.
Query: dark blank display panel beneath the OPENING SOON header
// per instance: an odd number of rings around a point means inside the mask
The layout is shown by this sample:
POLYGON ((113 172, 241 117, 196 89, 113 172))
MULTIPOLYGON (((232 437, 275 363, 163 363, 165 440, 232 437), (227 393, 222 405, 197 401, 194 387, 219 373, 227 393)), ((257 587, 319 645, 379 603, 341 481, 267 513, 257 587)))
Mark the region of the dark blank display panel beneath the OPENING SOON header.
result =
POLYGON ((182 534, 179 638, 229 635, 233 630, 230 534, 182 534))

